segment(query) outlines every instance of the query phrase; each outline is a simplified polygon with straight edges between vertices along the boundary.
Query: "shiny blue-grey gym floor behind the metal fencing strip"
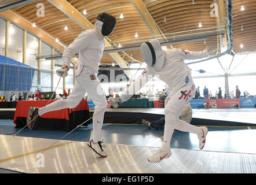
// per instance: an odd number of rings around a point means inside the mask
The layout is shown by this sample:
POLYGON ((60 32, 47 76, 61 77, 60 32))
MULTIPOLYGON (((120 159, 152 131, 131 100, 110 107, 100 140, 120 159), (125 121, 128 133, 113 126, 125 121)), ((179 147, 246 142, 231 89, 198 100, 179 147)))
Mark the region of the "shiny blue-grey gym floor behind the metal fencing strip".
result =
MULTIPOLYGON (((207 125, 207 123, 206 123, 207 125)), ((256 125, 255 125, 256 126, 256 125)), ((209 127, 206 145, 203 150, 232 153, 256 154, 256 127, 209 127)), ((19 129, 14 128, 13 120, 0 120, 0 134, 13 135, 19 129)), ((64 140, 89 142, 92 124, 76 129, 64 140)), ((19 136, 30 138, 60 139, 65 131, 42 131, 23 129, 19 136)), ((163 130, 148 129, 138 124, 103 124, 101 138, 105 143, 160 147, 163 130)), ((172 148, 199 150, 196 134, 175 131, 171 139, 172 148)), ((0 173, 16 173, 0 169, 0 173)))

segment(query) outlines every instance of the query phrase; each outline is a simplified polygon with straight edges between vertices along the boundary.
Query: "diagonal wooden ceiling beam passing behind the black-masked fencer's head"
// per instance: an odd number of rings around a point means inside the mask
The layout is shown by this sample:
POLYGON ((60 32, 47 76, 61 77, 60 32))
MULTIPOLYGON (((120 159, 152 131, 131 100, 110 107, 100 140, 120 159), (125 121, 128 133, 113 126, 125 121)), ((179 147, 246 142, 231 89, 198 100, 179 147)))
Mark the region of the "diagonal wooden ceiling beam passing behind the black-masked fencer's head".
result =
MULTIPOLYGON (((94 25, 85 17, 81 12, 79 12, 74 6, 65 0, 47 0, 56 6, 61 12, 74 20, 83 29, 94 29, 94 25)), ((110 39, 105 37, 105 47, 111 46, 109 42, 110 39)), ((111 57, 120 65, 122 68, 128 68, 126 61, 118 53, 112 53, 111 57)), ((130 75, 129 71, 126 71, 126 75, 130 75)))

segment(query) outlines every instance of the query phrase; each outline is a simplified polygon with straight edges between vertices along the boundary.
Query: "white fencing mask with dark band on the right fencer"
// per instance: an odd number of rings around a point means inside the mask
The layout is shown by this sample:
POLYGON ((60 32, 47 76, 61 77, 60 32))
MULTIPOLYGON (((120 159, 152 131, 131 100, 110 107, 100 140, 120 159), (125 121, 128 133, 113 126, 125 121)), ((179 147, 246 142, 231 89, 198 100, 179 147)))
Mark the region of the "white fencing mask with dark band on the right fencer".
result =
POLYGON ((140 51, 144 62, 152 66, 155 71, 160 71, 163 68, 164 51, 158 40, 153 39, 142 43, 140 51))

